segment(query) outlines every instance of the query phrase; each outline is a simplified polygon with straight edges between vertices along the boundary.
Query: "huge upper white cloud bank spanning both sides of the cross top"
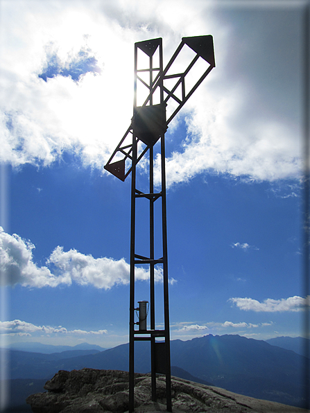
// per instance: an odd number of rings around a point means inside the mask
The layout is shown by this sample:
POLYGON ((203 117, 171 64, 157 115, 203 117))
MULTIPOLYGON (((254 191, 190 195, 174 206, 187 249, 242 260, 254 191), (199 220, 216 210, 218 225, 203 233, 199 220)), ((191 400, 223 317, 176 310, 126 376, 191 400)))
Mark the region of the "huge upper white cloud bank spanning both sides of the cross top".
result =
MULTIPOLYGON (((49 165, 67 150, 102 170, 132 116, 134 43, 164 37, 166 64, 182 36, 211 33, 216 68, 182 110, 187 138, 181 150, 168 155, 167 185, 208 171, 269 181, 298 177, 298 125, 266 108, 268 81, 260 88, 252 72, 239 73, 241 81, 227 70, 234 64, 230 42, 238 39, 230 24, 218 20, 214 4, 2 2, 0 160, 49 165), (62 76, 44 82, 37 75, 46 65, 46 47, 63 64, 89 49, 101 73, 87 73, 78 83, 62 76)), ((252 60, 255 47, 238 44, 239 58, 252 60)), ((261 73, 259 79, 264 82, 261 73)))

